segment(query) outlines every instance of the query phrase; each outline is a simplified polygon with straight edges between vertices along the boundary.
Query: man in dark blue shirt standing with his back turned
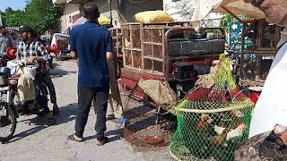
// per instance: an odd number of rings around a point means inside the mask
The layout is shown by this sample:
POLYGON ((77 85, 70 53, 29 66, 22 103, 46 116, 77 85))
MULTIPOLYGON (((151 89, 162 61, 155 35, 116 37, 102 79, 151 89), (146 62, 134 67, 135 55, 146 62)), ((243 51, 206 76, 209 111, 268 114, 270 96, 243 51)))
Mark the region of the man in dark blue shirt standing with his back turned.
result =
POLYGON ((83 25, 75 26, 70 32, 70 50, 79 66, 78 73, 78 112, 75 121, 75 133, 69 140, 83 141, 83 131, 91 108, 91 101, 96 98, 97 145, 104 145, 108 138, 104 136, 109 97, 109 68, 107 60, 113 59, 112 38, 109 30, 100 26, 98 6, 94 3, 84 4, 83 25))

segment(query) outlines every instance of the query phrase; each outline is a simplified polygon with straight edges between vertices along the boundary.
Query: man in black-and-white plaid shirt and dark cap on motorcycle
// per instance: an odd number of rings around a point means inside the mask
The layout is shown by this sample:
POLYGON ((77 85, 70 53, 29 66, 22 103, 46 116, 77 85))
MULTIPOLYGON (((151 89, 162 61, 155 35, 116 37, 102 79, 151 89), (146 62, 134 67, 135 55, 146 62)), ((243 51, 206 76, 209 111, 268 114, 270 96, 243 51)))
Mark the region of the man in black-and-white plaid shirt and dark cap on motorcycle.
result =
POLYGON ((37 69, 37 73, 35 76, 34 84, 35 84, 35 92, 36 99, 39 102, 39 105, 42 106, 43 110, 40 112, 40 115, 50 114, 48 108, 48 99, 42 95, 40 90, 41 84, 41 71, 44 61, 48 59, 48 52, 43 47, 41 43, 33 40, 33 30, 28 26, 22 26, 19 29, 19 34, 22 40, 18 43, 17 46, 17 58, 19 60, 26 60, 27 63, 38 62, 39 68, 37 69))

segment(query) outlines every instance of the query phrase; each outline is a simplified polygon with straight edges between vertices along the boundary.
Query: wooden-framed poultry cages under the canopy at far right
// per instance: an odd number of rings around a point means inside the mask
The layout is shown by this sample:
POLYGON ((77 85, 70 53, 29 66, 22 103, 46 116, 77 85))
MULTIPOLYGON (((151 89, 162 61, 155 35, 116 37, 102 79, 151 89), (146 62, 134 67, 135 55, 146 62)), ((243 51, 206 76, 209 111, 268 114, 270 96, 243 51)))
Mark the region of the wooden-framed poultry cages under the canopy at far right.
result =
POLYGON ((270 25, 265 20, 247 21, 243 23, 241 39, 240 82, 248 86, 263 86, 274 56, 280 31, 283 28, 270 25), (251 46, 246 46, 246 42, 251 46))

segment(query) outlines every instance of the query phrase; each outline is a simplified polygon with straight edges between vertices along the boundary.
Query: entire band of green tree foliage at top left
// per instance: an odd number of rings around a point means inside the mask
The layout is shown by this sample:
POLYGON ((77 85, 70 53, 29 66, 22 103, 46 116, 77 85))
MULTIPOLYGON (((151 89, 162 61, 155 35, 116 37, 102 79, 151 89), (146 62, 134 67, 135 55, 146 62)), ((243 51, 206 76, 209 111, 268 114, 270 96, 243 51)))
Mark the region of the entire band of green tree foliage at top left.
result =
POLYGON ((29 25, 34 30, 58 30, 63 9, 54 5, 52 0, 28 0, 24 11, 13 11, 7 8, 4 11, 5 26, 29 25))

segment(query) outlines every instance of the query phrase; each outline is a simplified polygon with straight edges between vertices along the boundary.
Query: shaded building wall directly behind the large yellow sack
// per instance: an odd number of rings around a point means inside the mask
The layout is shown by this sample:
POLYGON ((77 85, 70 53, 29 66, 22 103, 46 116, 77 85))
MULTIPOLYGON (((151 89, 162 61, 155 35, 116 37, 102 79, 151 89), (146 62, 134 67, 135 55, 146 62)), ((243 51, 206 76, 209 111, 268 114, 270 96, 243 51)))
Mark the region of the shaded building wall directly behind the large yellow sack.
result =
POLYGON ((135 21, 136 13, 151 10, 163 10, 162 0, 122 0, 118 6, 119 13, 122 13, 126 21, 130 22, 135 21))

